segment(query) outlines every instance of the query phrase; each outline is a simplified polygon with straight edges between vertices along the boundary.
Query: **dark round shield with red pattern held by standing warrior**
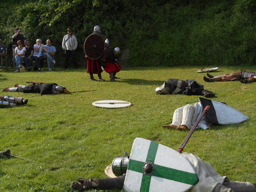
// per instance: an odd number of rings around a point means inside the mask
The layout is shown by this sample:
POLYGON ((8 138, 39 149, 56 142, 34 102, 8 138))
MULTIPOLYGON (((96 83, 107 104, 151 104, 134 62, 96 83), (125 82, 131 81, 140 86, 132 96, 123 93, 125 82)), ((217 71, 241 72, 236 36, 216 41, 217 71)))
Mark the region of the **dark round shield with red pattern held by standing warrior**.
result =
POLYGON ((99 34, 90 34, 84 42, 84 53, 90 59, 98 59, 102 56, 105 42, 99 34))

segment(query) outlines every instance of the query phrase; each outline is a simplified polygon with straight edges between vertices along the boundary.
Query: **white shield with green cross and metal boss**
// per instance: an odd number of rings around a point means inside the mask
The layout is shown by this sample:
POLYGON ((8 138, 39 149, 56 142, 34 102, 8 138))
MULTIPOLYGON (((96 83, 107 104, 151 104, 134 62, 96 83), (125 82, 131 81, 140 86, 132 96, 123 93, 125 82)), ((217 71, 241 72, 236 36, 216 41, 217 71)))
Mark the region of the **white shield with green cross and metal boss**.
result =
POLYGON ((198 182, 190 162, 176 150, 136 138, 128 163, 126 192, 185 192, 198 182), (145 171, 146 164, 150 171, 145 171))

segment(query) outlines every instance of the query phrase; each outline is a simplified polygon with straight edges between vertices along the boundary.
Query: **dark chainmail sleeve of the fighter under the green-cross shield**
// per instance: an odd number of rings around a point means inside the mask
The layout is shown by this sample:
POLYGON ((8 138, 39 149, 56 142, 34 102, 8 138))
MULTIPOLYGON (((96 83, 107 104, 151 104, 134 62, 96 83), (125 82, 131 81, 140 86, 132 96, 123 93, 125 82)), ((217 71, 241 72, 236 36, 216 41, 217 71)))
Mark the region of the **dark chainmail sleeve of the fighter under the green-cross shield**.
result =
POLYGON ((124 187, 125 175, 118 178, 106 178, 106 179, 96 179, 94 182, 98 185, 98 189, 108 190, 108 189, 123 189, 124 187))

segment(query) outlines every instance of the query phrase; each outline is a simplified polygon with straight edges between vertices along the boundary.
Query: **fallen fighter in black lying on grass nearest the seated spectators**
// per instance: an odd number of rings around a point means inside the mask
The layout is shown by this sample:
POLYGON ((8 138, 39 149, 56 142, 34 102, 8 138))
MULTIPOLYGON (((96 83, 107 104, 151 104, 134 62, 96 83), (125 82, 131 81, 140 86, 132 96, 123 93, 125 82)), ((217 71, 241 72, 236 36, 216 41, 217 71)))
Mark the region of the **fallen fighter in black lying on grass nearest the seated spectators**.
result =
POLYGON ((40 93, 46 94, 60 94, 70 93, 66 88, 59 86, 56 83, 32 83, 28 86, 14 84, 14 87, 7 87, 2 90, 3 92, 23 92, 23 93, 40 93))

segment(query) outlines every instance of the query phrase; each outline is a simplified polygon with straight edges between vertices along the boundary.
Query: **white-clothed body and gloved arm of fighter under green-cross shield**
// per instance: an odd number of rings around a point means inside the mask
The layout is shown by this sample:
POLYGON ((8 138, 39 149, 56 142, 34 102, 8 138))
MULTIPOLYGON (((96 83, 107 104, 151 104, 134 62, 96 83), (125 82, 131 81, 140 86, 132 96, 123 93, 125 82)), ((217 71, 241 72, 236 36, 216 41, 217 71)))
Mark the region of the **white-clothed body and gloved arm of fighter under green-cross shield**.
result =
MULTIPOLYGON (((256 184, 250 182, 230 181, 227 176, 220 176, 214 168, 202 161, 198 156, 191 153, 182 153, 182 155, 193 166, 199 178, 188 192, 256 192, 256 184)), ((118 178, 103 178, 96 180, 85 180, 78 178, 78 182, 72 182, 72 190, 90 190, 91 188, 99 190, 123 189, 125 175, 118 178)))

